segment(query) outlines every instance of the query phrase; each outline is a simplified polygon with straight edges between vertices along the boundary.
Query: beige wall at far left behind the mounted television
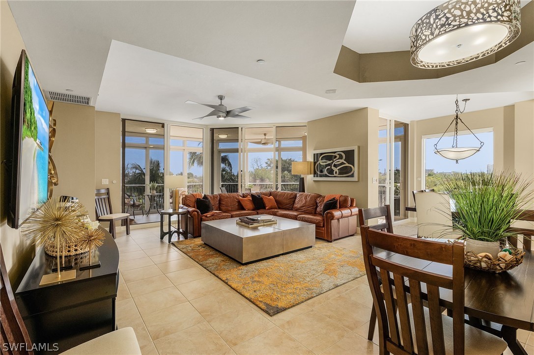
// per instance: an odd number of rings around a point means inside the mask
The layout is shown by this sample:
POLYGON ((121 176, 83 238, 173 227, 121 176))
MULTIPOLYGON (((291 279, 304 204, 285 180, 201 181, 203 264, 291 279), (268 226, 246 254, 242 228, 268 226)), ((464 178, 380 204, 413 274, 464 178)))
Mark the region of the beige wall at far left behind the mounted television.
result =
MULTIPOLYGON (((11 160, 11 85, 20 52, 25 49, 7 1, 0 1, 0 161, 11 160)), ((9 208, 9 170, 1 165, 0 173, 0 244, 7 273, 17 286, 32 261, 35 248, 22 238, 19 230, 7 226, 9 208)))

